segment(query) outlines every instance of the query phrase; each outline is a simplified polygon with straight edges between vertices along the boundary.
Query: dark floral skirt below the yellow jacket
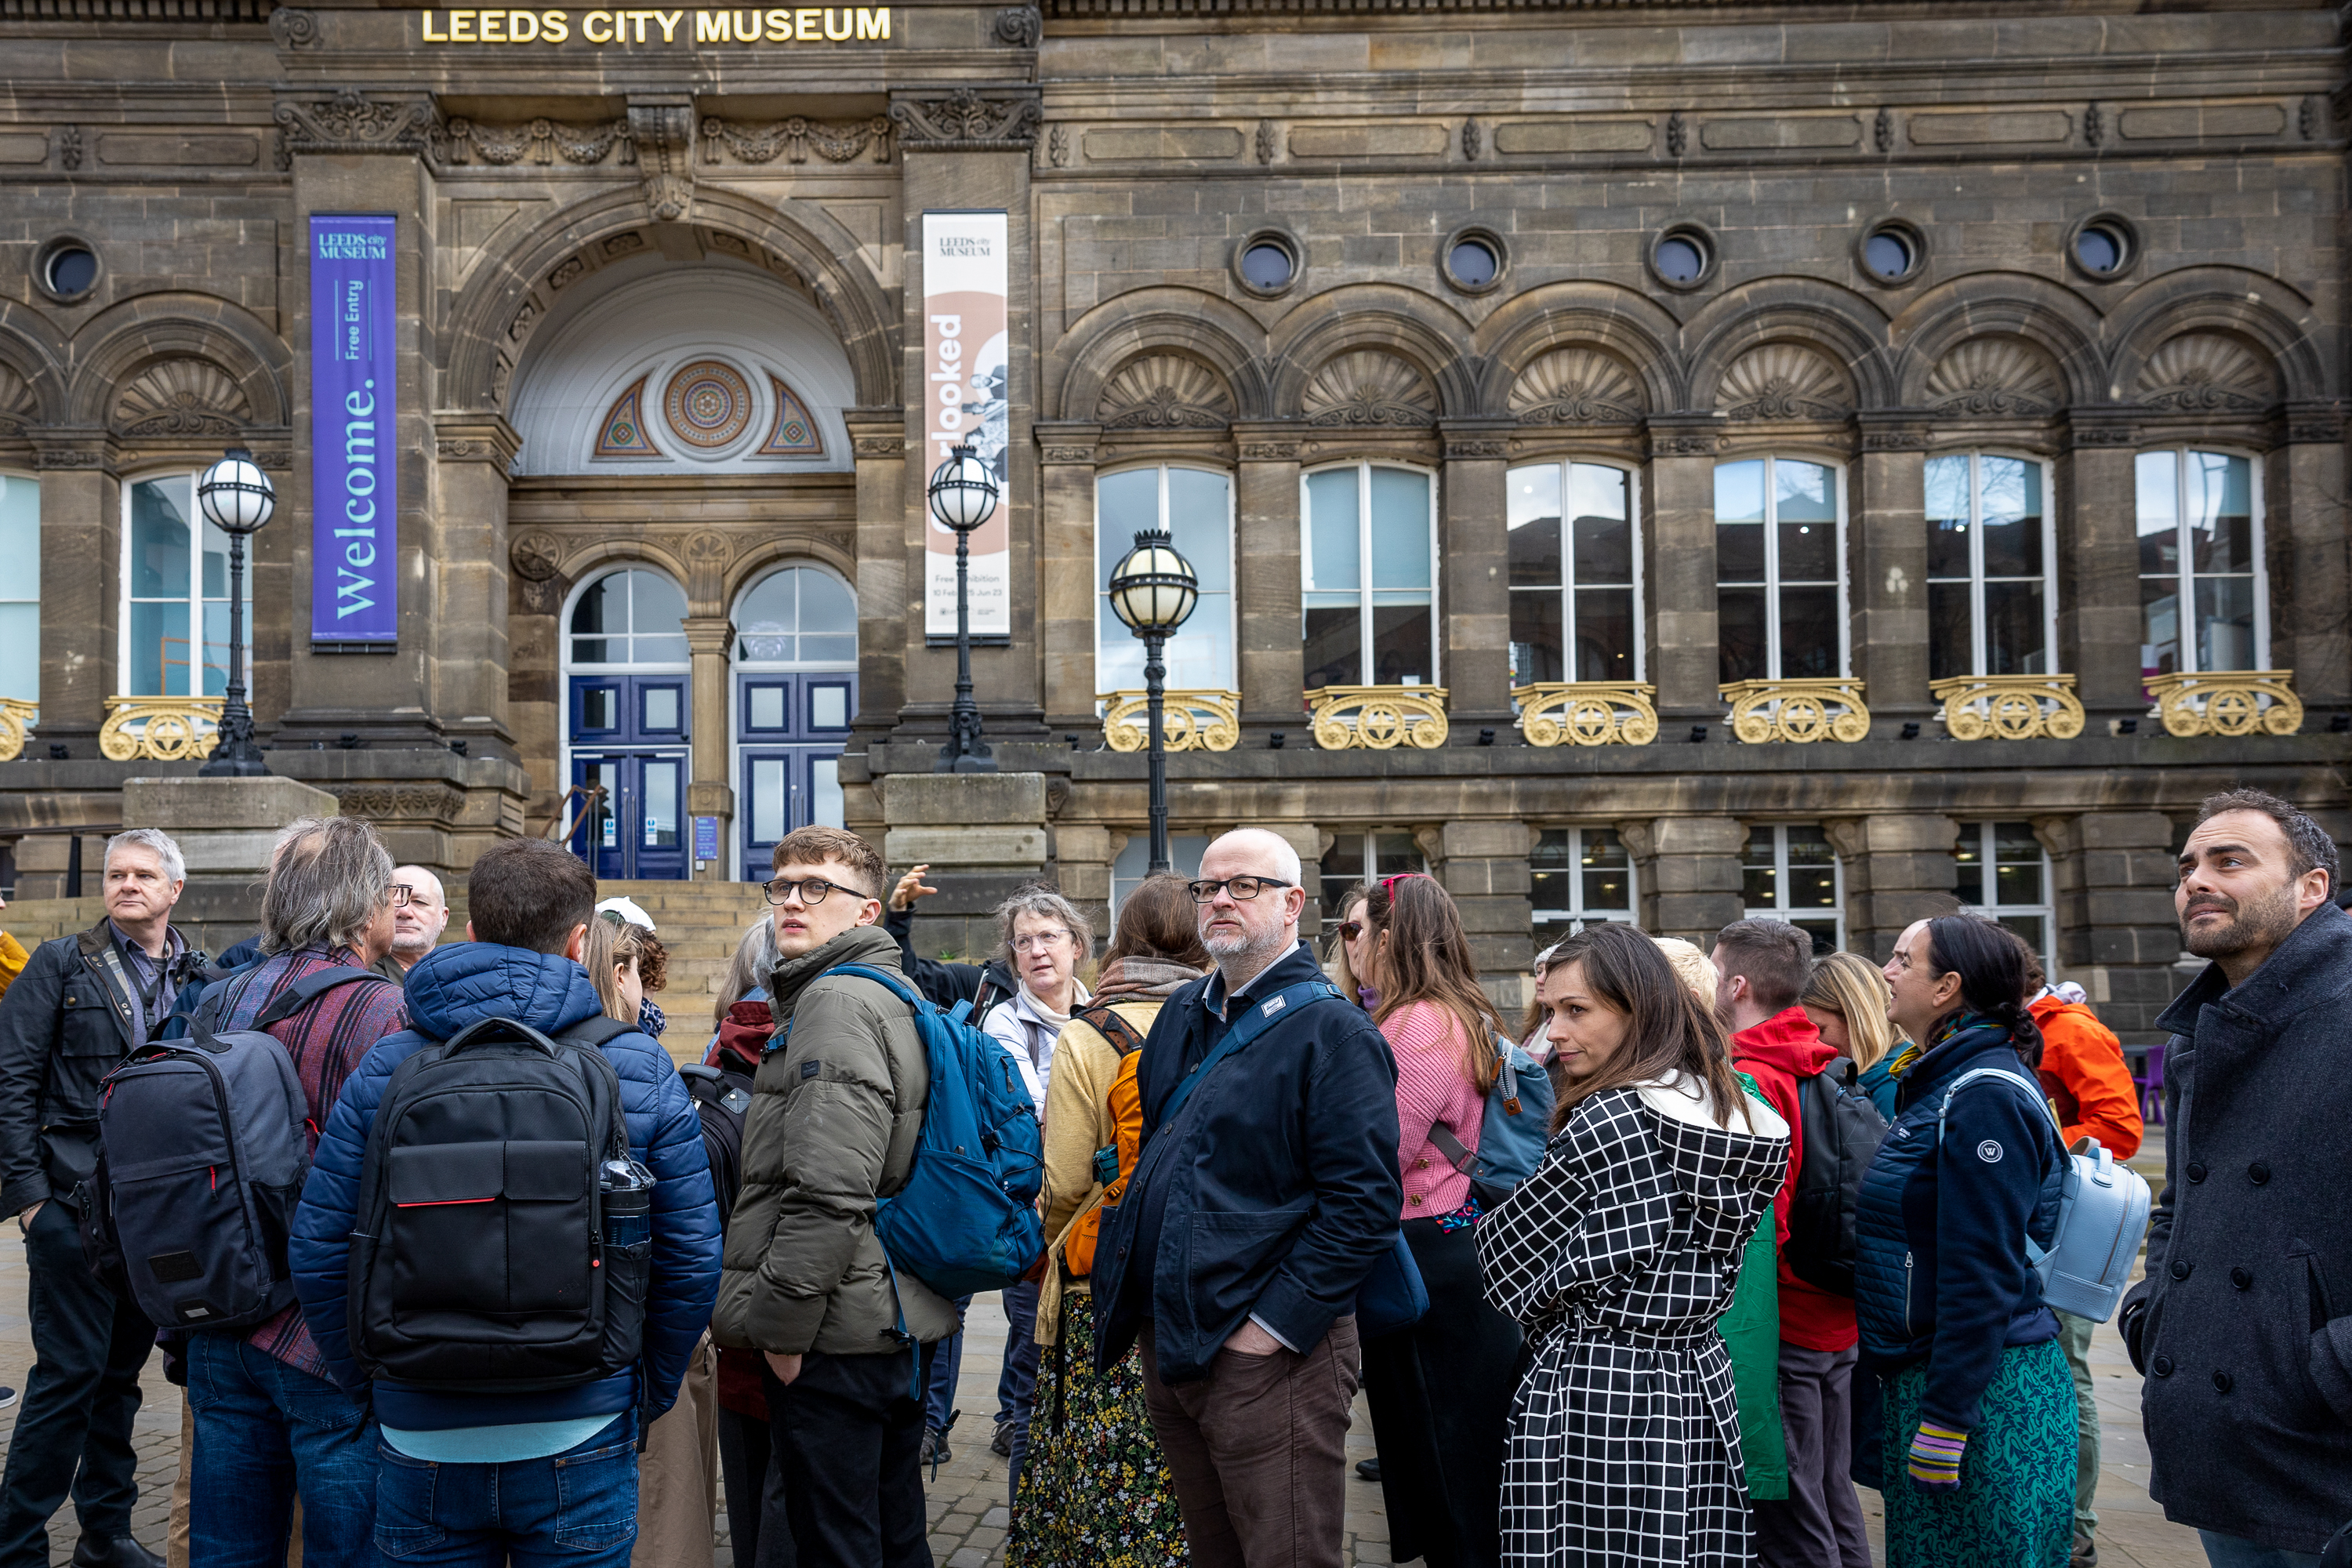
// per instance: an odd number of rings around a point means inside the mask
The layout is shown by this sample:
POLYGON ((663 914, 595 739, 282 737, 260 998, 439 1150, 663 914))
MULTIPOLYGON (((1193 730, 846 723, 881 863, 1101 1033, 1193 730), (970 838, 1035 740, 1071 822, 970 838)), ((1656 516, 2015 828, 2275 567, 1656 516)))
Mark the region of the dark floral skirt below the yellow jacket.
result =
POLYGON ((1028 1458, 1007 1568, 1183 1568, 1183 1514, 1134 1349, 1094 1373, 1094 1295, 1061 1298, 1061 1342, 1037 1347, 1028 1458))

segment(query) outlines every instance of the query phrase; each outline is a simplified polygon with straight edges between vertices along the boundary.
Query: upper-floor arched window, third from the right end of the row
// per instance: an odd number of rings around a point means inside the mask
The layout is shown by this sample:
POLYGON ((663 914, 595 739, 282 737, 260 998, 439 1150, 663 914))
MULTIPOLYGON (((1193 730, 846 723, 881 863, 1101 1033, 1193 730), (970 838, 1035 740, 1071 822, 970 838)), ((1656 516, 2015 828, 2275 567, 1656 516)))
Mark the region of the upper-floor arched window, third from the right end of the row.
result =
POLYGON ((1804 458, 1715 465, 1715 642, 1722 679, 1846 672, 1846 491, 1804 458))

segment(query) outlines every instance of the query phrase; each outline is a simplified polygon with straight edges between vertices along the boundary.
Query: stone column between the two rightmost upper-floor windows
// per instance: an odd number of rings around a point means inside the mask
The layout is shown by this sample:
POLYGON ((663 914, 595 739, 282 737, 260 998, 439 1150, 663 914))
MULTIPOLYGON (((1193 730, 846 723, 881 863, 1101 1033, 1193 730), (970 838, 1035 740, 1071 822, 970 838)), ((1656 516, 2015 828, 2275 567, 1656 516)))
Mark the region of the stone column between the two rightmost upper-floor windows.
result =
POLYGON ((2058 458, 2058 665, 2074 675, 2091 733, 2147 712, 2131 447, 2117 411, 2074 409, 2058 458))

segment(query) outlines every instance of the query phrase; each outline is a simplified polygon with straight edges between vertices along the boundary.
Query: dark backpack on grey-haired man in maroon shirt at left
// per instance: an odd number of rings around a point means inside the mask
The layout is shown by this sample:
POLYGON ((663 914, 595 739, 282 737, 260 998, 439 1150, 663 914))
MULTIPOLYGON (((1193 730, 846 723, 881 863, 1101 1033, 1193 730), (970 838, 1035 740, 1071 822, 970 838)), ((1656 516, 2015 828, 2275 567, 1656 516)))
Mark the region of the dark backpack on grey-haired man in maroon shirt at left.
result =
POLYGON ((188 1037, 151 1041, 106 1074, 82 1258, 155 1326, 249 1328, 294 1305, 287 1227, 313 1138, 294 1060, 266 1030, 358 980, 388 985, 369 969, 318 969, 228 1032, 212 1027, 214 987, 188 1037))

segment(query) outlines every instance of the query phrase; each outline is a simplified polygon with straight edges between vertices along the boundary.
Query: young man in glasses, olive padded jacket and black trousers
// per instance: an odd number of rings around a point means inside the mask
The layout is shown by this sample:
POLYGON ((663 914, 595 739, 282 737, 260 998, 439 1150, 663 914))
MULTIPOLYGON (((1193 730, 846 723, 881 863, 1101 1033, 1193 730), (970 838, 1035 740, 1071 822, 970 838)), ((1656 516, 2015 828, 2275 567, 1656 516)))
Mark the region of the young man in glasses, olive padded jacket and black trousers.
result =
POLYGON ((776 844, 769 1009, 776 1037, 743 1121, 713 1338, 764 1352, 767 1408, 802 1568, 929 1566, 920 1345, 955 1309, 891 1276, 875 1204, 906 1185, 929 1098, 922 1037, 884 985, 887 870, 866 839, 800 827, 776 844))

